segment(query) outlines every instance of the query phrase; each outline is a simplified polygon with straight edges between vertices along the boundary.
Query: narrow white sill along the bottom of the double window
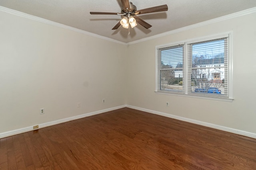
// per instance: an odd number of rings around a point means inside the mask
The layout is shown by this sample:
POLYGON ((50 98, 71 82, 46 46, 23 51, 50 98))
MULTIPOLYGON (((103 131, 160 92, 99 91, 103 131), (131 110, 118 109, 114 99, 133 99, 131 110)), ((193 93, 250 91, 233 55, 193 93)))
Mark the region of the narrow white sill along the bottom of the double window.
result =
POLYGON ((200 98, 200 99, 207 99, 207 100, 218 100, 223 102, 232 102, 234 99, 231 98, 214 98, 214 97, 206 97, 206 96, 196 96, 196 95, 190 95, 190 94, 178 94, 178 93, 168 93, 168 92, 157 92, 156 94, 163 94, 163 95, 171 95, 171 96, 182 96, 182 97, 188 97, 188 98, 200 98))

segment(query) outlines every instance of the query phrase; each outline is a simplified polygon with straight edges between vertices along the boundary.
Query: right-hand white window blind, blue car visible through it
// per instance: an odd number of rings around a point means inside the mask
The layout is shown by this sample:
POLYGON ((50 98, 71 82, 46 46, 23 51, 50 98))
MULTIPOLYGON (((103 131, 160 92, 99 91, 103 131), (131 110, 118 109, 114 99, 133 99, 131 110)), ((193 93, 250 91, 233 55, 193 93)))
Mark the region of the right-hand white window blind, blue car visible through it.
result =
POLYGON ((188 93, 228 97, 228 38, 188 44, 188 93))

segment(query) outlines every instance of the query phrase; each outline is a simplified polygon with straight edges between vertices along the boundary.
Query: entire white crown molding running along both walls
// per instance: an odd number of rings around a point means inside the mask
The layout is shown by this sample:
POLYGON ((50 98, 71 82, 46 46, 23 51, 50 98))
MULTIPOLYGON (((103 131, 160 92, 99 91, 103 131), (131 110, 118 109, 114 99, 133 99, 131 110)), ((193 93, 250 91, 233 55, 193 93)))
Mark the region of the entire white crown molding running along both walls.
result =
POLYGON ((209 25, 209 24, 216 23, 216 22, 219 22, 219 21, 230 20, 232 18, 252 14, 252 13, 256 12, 256 7, 250 8, 250 9, 247 9, 247 10, 243 10, 243 11, 240 11, 240 12, 236 12, 236 13, 233 13, 233 14, 229 14, 229 15, 226 15, 226 16, 222 16, 222 17, 219 17, 219 18, 214 18, 212 20, 203 21, 203 22, 200 22, 200 23, 196 23, 196 24, 193 24, 193 25, 186 26, 186 27, 178 28, 178 29, 168 31, 168 32, 165 32, 165 33, 160 33, 160 34, 157 34, 157 35, 153 35, 151 37, 139 39, 139 40, 132 41, 132 42, 129 42, 129 43, 124 43, 124 42, 121 42, 121 41, 117 41, 115 39, 104 37, 102 35, 98 35, 98 34, 90 33, 90 32, 87 32, 87 31, 83 31, 81 29, 77 29, 77 28, 70 27, 70 26, 67 26, 67 25, 64 25, 64 24, 61 24, 61 23, 57 23, 57 22, 54 22, 54 21, 50 21, 50 20, 46 20, 46 19, 39 18, 39 17, 36 17, 36 16, 32 16, 30 14, 26 14, 26 13, 23 13, 23 12, 19 12, 19 11, 16 11, 16 10, 5 8, 3 6, 0 6, 0 11, 6 12, 6 13, 9 13, 9 14, 13 14, 13 15, 16 15, 16 16, 20 16, 20 17, 23 17, 23 18, 28 18, 30 20, 46 23, 46 24, 49 24, 49 25, 54 25, 56 27, 61 27, 61 28, 68 29, 68 30, 71 30, 71 31, 75 31, 75 32, 78 32, 78 33, 82 33, 82 34, 85 34, 85 35, 90 35, 92 37, 104 39, 104 40, 111 41, 111 42, 114 42, 114 43, 118 43, 118 44, 122 44, 122 45, 132 45, 132 44, 136 44, 136 43, 141 43, 143 41, 148 41, 148 40, 151 40, 151 39, 164 37, 166 35, 171 35, 171 34, 174 34, 174 33, 179 33, 179 32, 182 32, 182 31, 189 30, 189 29, 201 27, 201 26, 204 26, 204 25, 209 25))

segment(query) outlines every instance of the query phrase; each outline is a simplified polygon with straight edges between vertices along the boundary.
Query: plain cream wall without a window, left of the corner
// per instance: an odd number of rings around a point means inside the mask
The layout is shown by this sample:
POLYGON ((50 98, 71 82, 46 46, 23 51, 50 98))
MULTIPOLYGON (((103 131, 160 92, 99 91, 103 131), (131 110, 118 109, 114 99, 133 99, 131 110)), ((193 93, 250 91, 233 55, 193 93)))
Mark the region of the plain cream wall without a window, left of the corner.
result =
POLYGON ((126 45, 5 12, 0 18, 0 134, 125 104, 126 45))

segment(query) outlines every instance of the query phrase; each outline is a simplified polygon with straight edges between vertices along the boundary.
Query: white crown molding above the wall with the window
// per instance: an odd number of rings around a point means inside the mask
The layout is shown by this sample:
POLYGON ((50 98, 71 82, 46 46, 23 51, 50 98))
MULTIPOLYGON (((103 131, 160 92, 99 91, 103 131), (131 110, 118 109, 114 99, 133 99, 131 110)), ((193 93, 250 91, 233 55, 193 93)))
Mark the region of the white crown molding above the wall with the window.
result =
POLYGON ((132 45, 132 44, 136 44, 136 43, 141 43, 143 41, 148 41, 148 40, 151 40, 151 39, 164 37, 166 35, 171 35, 171 34, 179 33, 179 32, 182 32, 182 31, 187 31, 189 29, 202 27, 202 26, 209 25, 209 24, 216 23, 216 22, 220 22, 220 21, 230 20, 232 18, 237 18, 237 17, 240 17, 240 16, 252 14, 254 12, 256 12, 256 7, 250 8, 248 10, 243 10, 243 11, 240 11, 240 12, 236 12, 236 13, 233 13, 233 14, 229 14, 229 15, 226 15, 226 16, 222 16, 222 17, 219 17, 219 18, 214 18, 212 20, 203 21, 203 22, 200 22, 200 23, 196 23, 196 24, 193 24, 193 25, 186 26, 186 27, 174 29, 172 31, 168 31, 168 32, 165 32, 165 33, 160 33, 160 34, 157 34, 157 35, 153 35, 151 37, 139 39, 137 41, 132 41, 132 42, 129 42, 129 43, 126 43, 126 44, 127 45, 132 45))

